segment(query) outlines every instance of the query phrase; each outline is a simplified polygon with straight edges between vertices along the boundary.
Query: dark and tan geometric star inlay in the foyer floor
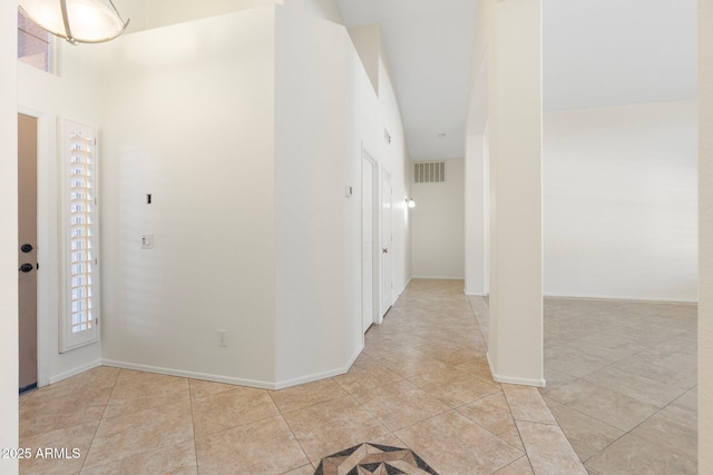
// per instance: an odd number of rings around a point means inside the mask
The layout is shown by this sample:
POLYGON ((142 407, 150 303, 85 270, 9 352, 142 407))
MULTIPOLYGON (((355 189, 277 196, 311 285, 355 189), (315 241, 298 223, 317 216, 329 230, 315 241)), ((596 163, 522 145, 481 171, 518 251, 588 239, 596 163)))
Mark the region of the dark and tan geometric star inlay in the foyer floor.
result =
POLYGON ((412 451, 378 444, 360 444, 324 457, 314 475, 438 475, 412 451))

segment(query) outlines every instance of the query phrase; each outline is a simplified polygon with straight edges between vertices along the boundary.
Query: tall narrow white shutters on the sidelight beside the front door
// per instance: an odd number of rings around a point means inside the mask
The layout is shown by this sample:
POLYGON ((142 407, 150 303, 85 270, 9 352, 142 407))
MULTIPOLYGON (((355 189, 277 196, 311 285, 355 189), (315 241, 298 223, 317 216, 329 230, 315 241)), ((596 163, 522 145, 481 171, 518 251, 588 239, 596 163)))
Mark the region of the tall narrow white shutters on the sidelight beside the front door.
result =
POLYGON ((70 120, 62 122, 62 199, 60 217, 64 247, 62 352, 98 338, 98 196, 96 129, 70 120))

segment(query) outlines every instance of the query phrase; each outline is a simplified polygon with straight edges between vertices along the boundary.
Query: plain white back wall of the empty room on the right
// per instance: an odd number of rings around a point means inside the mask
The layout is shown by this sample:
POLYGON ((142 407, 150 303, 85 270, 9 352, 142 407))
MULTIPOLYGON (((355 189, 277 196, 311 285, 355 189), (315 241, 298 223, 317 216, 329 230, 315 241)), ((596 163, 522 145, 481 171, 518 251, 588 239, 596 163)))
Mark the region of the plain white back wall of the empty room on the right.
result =
POLYGON ((545 115, 545 294, 696 300, 694 101, 545 115))

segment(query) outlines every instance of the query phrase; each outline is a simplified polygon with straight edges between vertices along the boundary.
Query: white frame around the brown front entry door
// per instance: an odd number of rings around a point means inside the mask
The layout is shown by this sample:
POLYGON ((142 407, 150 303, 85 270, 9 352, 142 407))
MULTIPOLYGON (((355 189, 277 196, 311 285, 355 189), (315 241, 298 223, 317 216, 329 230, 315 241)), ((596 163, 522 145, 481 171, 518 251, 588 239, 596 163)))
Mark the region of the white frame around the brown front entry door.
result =
POLYGON ((57 160, 45 159, 52 155, 51 129, 55 119, 43 111, 23 106, 18 106, 17 113, 37 119, 37 261, 40 264, 40 269, 37 270, 37 387, 42 387, 49 384, 52 321, 56 330, 59 329, 57 303, 52 300, 52 294, 58 293, 58 281, 57 278, 51 278, 57 274, 52 274, 55 266, 52 253, 49 251, 58 249, 57 207, 53 206, 57 196, 57 160))

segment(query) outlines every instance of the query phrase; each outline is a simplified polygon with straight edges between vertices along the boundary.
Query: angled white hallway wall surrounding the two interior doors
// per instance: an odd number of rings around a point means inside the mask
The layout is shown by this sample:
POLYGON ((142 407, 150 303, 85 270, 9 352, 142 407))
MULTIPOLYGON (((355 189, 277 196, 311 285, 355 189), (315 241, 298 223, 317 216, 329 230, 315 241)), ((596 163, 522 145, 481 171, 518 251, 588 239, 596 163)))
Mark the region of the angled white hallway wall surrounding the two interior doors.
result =
POLYGON ((392 177, 394 300, 406 287, 409 220, 400 197, 409 169, 385 58, 377 58, 377 97, 343 27, 279 8, 276 32, 276 352, 284 386, 345 370, 362 348, 362 149, 392 177))

